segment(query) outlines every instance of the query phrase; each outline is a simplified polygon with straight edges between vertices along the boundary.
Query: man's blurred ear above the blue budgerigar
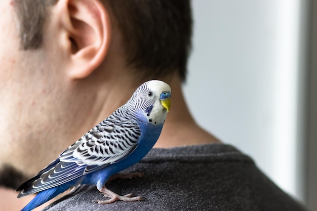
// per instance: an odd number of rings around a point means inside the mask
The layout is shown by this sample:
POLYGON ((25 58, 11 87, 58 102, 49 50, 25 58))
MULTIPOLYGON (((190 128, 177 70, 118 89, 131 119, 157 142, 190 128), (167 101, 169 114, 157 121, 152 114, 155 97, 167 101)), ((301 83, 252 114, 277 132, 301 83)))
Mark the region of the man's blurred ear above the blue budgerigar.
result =
POLYGON ((104 60, 110 44, 110 20, 98 0, 59 0, 60 44, 72 79, 89 76, 104 60))

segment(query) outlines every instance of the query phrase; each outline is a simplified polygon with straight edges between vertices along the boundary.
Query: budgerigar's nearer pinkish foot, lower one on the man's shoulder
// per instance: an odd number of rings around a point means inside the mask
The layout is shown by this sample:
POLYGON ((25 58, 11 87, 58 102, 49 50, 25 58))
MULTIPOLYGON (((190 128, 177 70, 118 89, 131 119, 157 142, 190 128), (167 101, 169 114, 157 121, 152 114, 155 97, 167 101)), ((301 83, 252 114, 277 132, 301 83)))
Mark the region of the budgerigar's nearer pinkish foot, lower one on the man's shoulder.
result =
POLYGON ((93 200, 94 202, 97 202, 99 204, 109 204, 109 203, 113 203, 114 201, 117 201, 117 200, 120 200, 120 201, 141 201, 141 200, 145 199, 142 196, 132 197, 133 196, 132 193, 121 196, 121 195, 118 195, 118 194, 112 192, 111 190, 107 189, 106 187, 103 187, 99 191, 101 192, 101 194, 104 197, 110 198, 108 200, 93 200))

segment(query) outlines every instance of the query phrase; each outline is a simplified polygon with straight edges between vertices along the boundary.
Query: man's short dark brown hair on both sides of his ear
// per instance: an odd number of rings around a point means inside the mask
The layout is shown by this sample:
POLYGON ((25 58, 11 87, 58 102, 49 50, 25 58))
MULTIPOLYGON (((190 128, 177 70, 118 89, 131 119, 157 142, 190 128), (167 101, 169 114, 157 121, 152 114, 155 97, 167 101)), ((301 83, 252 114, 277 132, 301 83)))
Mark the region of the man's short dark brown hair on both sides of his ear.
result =
MULTIPOLYGON (((15 0, 22 49, 41 47, 47 8, 57 1, 15 0)), ((185 80, 192 35, 190 0, 102 2, 122 32, 128 65, 155 77, 177 70, 185 80)))

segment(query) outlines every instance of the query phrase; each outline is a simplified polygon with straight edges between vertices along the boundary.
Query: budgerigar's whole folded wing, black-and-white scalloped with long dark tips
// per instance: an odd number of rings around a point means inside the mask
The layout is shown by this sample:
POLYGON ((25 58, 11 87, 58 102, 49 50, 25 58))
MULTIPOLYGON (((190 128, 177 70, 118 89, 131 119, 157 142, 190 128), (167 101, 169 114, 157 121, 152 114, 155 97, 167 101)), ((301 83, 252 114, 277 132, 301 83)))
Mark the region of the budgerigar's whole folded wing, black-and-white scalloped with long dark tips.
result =
POLYGON ((105 119, 66 149, 50 170, 46 168, 33 182, 22 184, 19 197, 62 185, 126 158, 138 146, 140 135, 136 121, 105 119))

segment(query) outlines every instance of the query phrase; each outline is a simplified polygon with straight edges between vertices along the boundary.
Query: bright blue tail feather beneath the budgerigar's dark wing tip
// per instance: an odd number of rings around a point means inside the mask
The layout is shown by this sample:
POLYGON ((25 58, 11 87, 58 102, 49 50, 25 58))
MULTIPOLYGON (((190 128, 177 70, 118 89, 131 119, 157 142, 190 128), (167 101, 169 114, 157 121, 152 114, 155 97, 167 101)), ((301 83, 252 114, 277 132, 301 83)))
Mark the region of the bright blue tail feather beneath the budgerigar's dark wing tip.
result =
POLYGON ((50 188, 37 193, 37 195, 25 206, 21 211, 31 211, 35 207, 44 204, 45 202, 51 200, 58 194, 69 189, 68 185, 61 185, 58 187, 50 188))

